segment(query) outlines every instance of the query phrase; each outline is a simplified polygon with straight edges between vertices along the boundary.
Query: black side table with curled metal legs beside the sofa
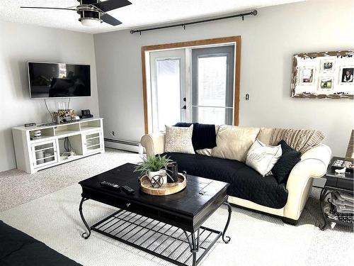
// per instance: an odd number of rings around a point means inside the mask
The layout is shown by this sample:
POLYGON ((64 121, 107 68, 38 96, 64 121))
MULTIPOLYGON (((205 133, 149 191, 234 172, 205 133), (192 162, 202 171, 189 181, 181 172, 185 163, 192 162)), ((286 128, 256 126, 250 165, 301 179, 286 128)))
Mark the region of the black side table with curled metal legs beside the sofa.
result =
MULTIPOLYGON (((328 222, 343 224, 345 226, 353 226, 353 214, 347 214, 338 216, 337 218, 329 217, 328 214, 324 211, 326 203, 331 204, 327 199, 332 196, 333 192, 344 192, 350 194, 353 197, 353 172, 346 172, 343 174, 337 174, 331 167, 335 160, 346 160, 343 157, 333 157, 329 163, 329 167, 326 172, 326 184, 321 191, 320 195, 320 205, 321 205, 321 214, 324 220, 324 223, 319 224, 319 228, 324 230, 328 222)), ((330 205, 333 209, 333 204, 330 205)))

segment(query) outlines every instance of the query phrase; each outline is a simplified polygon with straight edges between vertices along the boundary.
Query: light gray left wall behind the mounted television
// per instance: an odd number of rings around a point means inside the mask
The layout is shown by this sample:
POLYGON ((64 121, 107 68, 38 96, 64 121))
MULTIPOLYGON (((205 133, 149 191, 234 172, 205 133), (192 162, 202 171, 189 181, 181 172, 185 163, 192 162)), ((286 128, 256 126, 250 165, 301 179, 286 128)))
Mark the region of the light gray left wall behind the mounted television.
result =
MULTIPOLYGON (((93 35, 1 21, 0 172, 16 167, 11 127, 28 122, 50 121, 44 101, 31 100, 29 97, 28 60, 90 64, 92 97, 72 99, 70 106, 77 111, 91 109, 98 116, 93 35)), ((57 109, 57 100, 50 99, 47 102, 52 111, 57 109)))

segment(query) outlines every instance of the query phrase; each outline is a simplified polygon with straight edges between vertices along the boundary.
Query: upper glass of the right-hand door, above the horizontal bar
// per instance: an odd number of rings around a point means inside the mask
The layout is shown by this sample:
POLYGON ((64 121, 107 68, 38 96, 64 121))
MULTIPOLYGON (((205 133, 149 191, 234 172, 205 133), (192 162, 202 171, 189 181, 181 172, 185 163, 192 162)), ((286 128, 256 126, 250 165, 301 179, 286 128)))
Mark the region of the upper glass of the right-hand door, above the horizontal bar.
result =
POLYGON ((226 78, 227 78, 227 57, 226 56, 199 57, 198 58, 198 105, 199 106, 225 106, 226 86, 227 86, 226 78))

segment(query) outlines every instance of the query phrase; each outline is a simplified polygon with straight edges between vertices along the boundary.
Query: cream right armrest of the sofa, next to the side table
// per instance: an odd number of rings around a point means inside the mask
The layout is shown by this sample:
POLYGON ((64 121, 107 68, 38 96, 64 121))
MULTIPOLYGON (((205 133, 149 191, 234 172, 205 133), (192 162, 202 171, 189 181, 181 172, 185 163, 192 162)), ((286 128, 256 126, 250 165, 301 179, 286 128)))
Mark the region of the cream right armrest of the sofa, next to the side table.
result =
POLYGON ((308 150, 295 165, 287 179, 287 204, 284 207, 284 216, 297 220, 304 209, 309 192, 312 189, 313 178, 323 177, 326 174, 331 149, 326 145, 319 145, 308 150))

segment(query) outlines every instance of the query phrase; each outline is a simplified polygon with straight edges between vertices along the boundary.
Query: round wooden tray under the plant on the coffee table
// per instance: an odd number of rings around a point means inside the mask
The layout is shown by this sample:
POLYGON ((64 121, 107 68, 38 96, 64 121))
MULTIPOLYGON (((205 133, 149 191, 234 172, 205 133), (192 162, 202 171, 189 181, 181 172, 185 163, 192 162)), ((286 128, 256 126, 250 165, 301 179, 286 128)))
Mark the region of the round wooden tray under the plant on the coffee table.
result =
POLYGON ((175 194, 183 190, 186 185, 187 182, 185 176, 183 176, 182 174, 178 174, 178 182, 163 184, 161 187, 152 187, 149 177, 147 177, 147 175, 144 175, 144 177, 140 179, 140 188, 142 189, 142 191, 155 196, 166 196, 175 194))

